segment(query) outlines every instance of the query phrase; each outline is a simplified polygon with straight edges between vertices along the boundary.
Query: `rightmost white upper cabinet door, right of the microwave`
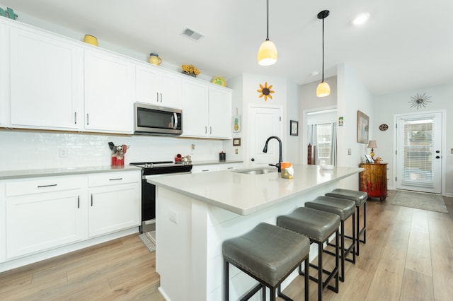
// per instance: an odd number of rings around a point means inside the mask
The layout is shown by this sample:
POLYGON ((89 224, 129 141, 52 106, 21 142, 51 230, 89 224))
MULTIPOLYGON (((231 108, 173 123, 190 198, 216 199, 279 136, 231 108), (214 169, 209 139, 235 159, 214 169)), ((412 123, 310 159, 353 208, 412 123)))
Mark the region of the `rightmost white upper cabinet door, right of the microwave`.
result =
POLYGON ((209 136, 231 138, 231 91, 209 88, 209 136))

